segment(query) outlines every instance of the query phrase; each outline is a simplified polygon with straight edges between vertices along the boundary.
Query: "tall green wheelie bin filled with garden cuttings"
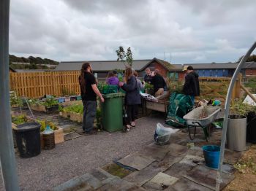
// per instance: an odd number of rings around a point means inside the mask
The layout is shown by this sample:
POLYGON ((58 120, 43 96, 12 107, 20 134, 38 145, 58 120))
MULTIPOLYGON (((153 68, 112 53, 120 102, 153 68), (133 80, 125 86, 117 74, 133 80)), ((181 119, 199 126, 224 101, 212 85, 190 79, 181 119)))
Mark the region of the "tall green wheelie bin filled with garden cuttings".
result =
POLYGON ((123 98, 124 93, 109 93, 102 95, 102 125, 108 132, 123 129, 123 98))

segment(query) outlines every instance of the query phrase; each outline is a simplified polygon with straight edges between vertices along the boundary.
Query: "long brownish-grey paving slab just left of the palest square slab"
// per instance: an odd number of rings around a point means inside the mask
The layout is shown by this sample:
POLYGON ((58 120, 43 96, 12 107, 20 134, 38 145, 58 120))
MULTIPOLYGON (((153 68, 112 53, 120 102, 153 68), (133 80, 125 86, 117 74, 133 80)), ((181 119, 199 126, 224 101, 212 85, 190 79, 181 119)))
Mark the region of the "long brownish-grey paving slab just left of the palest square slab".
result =
POLYGON ((154 176, 159 174, 159 172, 165 171, 167 168, 159 165, 159 162, 154 162, 151 165, 148 165, 146 168, 143 168, 141 171, 135 171, 128 176, 125 176, 124 179, 129 182, 134 182, 135 184, 142 186, 154 176))

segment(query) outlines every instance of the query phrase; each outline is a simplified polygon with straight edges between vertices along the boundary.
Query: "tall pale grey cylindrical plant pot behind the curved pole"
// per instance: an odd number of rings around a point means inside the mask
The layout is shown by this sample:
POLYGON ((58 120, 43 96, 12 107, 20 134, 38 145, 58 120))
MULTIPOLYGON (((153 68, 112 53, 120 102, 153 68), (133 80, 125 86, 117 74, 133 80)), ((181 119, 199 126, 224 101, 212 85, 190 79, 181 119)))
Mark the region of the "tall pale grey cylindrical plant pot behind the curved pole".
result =
POLYGON ((246 150, 246 117, 230 114, 227 123, 227 148, 235 151, 246 150))

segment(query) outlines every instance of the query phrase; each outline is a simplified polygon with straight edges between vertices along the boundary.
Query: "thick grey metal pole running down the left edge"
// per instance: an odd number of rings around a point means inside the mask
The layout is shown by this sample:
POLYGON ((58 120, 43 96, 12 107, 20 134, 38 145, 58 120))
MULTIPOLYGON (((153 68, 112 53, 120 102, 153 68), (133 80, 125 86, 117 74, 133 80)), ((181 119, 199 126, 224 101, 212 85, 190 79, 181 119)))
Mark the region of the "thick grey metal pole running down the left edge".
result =
POLYGON ((16 191, 18 176, 12 140, 9 93, 9 12, 10 0, 0 1, 0 160, 5 190, 16 191))

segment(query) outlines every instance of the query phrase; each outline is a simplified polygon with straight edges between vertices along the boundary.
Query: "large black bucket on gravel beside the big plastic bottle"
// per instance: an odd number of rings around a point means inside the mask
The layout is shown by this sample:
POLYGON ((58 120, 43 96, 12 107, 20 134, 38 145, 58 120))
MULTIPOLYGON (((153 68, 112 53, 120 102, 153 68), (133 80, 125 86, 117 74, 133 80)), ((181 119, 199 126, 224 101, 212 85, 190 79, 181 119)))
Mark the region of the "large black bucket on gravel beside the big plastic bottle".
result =
POLYGON ((34 157, 41 152, 39 122, 26 122, 13 129, 20 157, 34 157))

